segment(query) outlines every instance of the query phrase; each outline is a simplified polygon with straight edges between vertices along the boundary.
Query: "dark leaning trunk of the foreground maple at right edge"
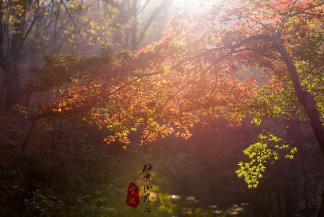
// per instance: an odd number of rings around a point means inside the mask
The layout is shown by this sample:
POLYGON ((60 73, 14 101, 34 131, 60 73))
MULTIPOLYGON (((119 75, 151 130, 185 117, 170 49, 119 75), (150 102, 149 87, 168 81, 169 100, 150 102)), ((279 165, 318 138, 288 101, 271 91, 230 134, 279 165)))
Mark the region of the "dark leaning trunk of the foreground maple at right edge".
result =
MULTIPOLYGON (((298 101, 306 108, 306 113, 309 117, 310 124, 312 126, 313 132, 315 134, 315 137, 318 141, 319 147, 321 149, 321 152, 324 156, 324 128, 321 124, 319 112, 316 108, 316 103, 314 100, 314 97, 307 91, 303 90, 300 80, 298 78, 297 68, 292 60, 292 58, 289 56, 287 50, 282 46, 279 40, 279 35, 277 33, 274 33, 272 35, 272 40, 275 48, 279 51, 282 58, 284 59, 285 63, 288 66, 289 74, 292 77, 294 90, 297 96, 298 101)), ((324 216, 324 191, 322 194, 322 199, 318 207, 317 211, 317 217, 324 216)))

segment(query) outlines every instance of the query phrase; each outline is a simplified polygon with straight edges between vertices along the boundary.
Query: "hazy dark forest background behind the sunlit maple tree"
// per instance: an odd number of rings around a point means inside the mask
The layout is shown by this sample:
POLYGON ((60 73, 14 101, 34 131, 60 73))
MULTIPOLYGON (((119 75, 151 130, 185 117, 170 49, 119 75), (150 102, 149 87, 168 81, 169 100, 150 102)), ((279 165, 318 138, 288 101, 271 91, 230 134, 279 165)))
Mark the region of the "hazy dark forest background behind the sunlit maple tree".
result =
MULTIPOLYGON (((194 126, 192 138, 107 146, 108 130, 78 120, 25 119, 24 84, 47 54, 99 56, 157 42, 176 8, 172 0, 4 0, 0 3, 0 216, 314 216, 324 188, 324 159, 307 121, 278 117, 260 126, 194 126), (282 128, 282 126, 285 126, 282 128), (267 167, 248 189, 237 163, 260 131, 285 132, 298 152, 267 167), (151 212, 126 205, 130 182, 142 189, 153 166, 151 212)), ((53 92, 55 94, 55 91, 53 92)), ((37 93, 50 97, 53 93, 37 93)))

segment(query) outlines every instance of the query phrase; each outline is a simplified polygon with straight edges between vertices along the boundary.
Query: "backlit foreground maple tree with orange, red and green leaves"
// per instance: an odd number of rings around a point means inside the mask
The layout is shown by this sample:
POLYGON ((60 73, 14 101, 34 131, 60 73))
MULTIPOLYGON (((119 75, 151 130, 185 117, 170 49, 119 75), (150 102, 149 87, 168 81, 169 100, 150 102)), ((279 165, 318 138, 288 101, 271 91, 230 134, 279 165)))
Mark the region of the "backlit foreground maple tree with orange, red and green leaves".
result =
MULTIPOLYGON (((38 117, 81 118, 112 134, 124 149, 140 130, 141 144, 170 134, 189 138, 195 123, 252 115, 309 119, 324 154, 324 2, 241 1, 206 3, 178 11, 159 42, 134 52, 101 57, 47 56, 29 91, 57 87, 52 100, 34 100, 38 117), (251 74, 261 69, 256 80, 251 74)), ((21 108, 24 110, 24 108, 21 108)), ((276 150, 297 151, 269 133, 260 135, 240 163, 238 176, 256 187, 276 150)), ((324 201, 322 201, 324 203, 324 201)), ((318 210, 318 216, 323 212, 318 210)))

